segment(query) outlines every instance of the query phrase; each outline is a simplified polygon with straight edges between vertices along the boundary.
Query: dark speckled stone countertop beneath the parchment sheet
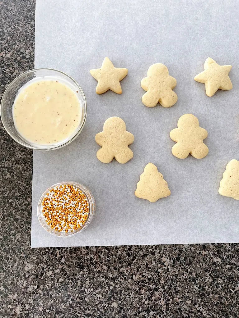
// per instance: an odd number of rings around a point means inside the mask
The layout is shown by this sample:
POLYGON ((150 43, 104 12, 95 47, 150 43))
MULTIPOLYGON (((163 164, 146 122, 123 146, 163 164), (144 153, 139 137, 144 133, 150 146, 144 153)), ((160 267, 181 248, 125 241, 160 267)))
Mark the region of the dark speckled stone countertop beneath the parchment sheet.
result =
MULTIPOLYGON (((34 1, 0 0, 0 98, 33 66, 34 1)), ((0 137, 0 317, 239 317, 238 244, 31 249, 32 151, 0 137)))

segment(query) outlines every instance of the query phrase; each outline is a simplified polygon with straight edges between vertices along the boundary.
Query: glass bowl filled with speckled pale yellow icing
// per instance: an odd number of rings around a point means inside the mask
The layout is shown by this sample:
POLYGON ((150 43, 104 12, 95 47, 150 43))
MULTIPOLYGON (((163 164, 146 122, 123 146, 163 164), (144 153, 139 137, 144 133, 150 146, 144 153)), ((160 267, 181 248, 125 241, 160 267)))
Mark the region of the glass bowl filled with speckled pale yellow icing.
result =
POLYGON ((87 114, 84 93, 67 74, 36 69, 14 79, 1 101, 1 119, 21 145, 51 150, 72 142, 87 114))

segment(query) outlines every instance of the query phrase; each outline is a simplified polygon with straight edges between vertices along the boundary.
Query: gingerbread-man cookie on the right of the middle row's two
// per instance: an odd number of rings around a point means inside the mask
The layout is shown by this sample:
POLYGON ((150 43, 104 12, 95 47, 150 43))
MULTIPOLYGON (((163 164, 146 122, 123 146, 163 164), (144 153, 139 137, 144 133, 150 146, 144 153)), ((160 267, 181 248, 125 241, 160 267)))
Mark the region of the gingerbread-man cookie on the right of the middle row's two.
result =
POLYGON ((191 154, 196 159, 204 158, 208 154, 208 148, 203 143, 207 137, 207 131, 199 127, 199 121, 192 114, 181 116, 177 127, 170 131, 170 138, 177 143, 172 147, 172 154, 185 159, 191 154))

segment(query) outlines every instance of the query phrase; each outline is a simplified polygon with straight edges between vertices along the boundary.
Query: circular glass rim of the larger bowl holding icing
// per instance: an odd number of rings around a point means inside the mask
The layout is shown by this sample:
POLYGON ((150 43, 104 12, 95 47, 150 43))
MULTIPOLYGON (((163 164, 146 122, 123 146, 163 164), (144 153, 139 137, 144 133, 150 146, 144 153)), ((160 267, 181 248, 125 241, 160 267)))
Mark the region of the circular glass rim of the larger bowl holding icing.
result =
POLYGON ((70 75, 68 75, 67 73, 64 73, 62 71, 59 71, 59 70, 56 70, 54 68, 33 68, 31 70, 28 70, 26 72, 23 72, 21 74, 19 74, 15 79, 13 79, 7 86, 7 88, 5 89, 4 93, 3 93, 3 97, 1 99, 1 103, 0 103, 0 117, 1 117, 1 121, 2 121, 2 124, 3 124, 3 127, 4 129, 6 130, 6 132, 8 133, 8 135, 13 139, 15 140, 18 144, 20 144, 21 146, 25 147, 25 148, 29 148, 29 149, 33 149, 33 150, 55 150, 55 149, 60 149, 62 147, 65 147, 66 145, 68 145, 69 143, 73 142, 73 140, 76 139, 76 137, 78 137, 78 135, 82 132, 82 129, 85 125, 85 121, 86 121, 86 117, 87 117, 87 102, 86 102, 86 98, 85 98, 85 94, 83 92, 83 89, 81 88, 81 86, 77 83, 77 81, 71 77, 70 75), (76 133, 75 135, 73 135, 69 140, 67 140, 66 142, 64 142, 63 144, 60 144, 60 145, 57 145, 55 147, 52 147, 52 146, 49 146, 49 147, 45 147, 45 148, 38 148, 38 147, 34 147, 34 146, 29 146, 29 145, 26 145, 24 142, 20 142, 19 140, 17 140, 15 138, 15 136, 13 136, 11 134, 11 131, 9 131, 8 128, 6 128, 6 125, 5 125, 5 122, 3 120, 3 116, 2 116, 2 113, 3 113, 3 104, 4 104, 4 99, 5 99, 5 96, 6 96, 6 93, 8 92, 9 88, 11 87, 11 85, 17 81, 19 78, 23 77, 24 75, 28 74, 28 73, 32 73, 34 71, 45 71, 45 70, 50 70, 50 71, 54 71, 54 72, 58 72, 58 73, 61 73, 63 74, 64 76, 67 76, 71 81, 73 81, 76 86, 78 87, 80 93, 82 94, 82 97, 83 97, 83 101, 84 101, 84 114, 83 114, 83 121, 82 121, 82 124, 81 126, 79 127, 78 130, 76 130, 76 133))

